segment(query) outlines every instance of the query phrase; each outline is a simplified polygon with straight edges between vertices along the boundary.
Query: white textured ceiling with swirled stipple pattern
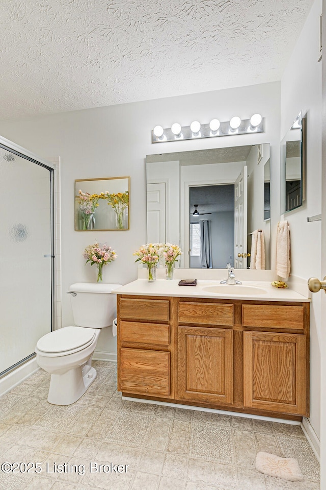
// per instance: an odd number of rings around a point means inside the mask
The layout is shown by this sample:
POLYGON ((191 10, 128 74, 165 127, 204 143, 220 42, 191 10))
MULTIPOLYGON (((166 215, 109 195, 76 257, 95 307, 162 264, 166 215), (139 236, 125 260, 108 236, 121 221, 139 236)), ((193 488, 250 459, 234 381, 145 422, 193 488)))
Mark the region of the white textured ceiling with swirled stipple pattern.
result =
POLYGON ((313 0, 0 0, 0 119, 280 80, 313 0))

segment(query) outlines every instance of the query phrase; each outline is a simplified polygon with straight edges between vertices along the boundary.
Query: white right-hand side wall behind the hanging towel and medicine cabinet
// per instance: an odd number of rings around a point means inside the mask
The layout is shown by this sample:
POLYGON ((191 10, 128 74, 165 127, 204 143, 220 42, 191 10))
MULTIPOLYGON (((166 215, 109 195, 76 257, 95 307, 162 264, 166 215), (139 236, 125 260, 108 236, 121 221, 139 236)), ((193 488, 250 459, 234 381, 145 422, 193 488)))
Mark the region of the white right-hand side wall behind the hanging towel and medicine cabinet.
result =
MULTIPOLYGON (((301 110, 307 118, 306 201, 301 208, 282 216, 290 224, 291 274, 305 280, 312 276, 321 277, 320 222, 307 222, 307 216, 321 212, 321 63, 318 63, 321 10, 322 2, 316 0, 281 81, 280 138, 284 137, 301 110)), ((310 422, 319 436, 321 294, 312 296, 310 422)))

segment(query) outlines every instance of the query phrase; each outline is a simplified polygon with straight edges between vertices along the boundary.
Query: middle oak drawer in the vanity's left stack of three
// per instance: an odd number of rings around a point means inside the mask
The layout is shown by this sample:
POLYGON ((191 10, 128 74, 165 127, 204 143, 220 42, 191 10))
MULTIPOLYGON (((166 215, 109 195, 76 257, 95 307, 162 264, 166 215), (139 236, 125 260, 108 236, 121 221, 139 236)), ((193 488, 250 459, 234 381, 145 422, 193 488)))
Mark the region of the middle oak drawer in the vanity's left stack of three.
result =
POLYGON ((121 344, 133 342, 137 344, 170 344, 170 325, 159 323, 123 322, 120 323, 121 344))

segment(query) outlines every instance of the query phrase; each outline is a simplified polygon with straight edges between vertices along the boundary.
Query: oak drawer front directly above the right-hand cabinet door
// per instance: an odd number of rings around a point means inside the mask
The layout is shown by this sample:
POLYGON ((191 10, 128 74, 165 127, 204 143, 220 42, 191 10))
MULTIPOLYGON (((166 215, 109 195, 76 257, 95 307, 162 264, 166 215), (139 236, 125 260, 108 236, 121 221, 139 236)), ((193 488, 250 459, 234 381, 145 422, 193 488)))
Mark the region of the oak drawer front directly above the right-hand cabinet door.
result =
POLYGON ((242 325, 303 330, 304 313, 303 306, 242 305, 242 325))

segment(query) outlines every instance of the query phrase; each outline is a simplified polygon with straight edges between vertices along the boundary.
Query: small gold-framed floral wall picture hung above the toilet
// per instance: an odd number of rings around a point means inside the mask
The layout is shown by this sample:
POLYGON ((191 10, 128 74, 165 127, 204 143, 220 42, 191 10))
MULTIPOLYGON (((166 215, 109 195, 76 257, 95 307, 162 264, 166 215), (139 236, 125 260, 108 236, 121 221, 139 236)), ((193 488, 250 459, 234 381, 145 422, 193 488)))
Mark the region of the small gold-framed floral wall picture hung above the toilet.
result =
POLYGON ((129 230, 130 177, 75 180, 75 230, 129 230))

